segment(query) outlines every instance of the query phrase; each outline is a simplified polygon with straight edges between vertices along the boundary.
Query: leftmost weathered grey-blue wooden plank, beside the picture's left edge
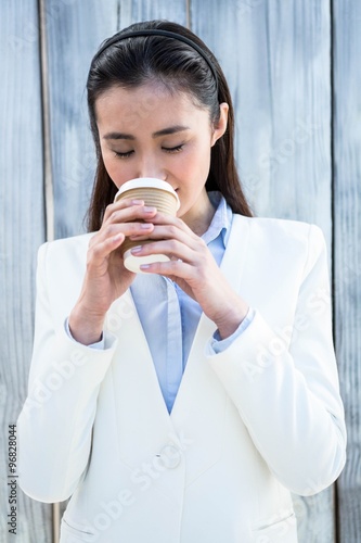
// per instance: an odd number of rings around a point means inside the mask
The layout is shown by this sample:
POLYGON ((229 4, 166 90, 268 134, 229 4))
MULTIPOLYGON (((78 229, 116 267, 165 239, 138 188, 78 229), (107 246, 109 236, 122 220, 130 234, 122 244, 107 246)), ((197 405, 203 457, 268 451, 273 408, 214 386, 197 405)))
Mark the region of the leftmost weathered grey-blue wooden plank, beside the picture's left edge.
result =
POLYGON ((51 507, 17 487, 17 530, 9 533, 8 427, 26 397, 34 332, 35 268, 44 240, 40 61, 36 0, 2 2, 0 50, 0 541, 49 543, 51 507))

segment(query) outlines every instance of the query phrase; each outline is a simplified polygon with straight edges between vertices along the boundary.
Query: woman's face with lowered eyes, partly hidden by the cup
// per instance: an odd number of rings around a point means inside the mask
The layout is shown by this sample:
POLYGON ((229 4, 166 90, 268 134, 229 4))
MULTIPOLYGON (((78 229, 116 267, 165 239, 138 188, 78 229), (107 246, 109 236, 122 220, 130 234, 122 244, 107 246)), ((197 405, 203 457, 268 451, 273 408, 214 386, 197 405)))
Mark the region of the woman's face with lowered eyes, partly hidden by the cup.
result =
POLYGON ((137 177, 156 177, 177 191, 178 216, 185 223, 207 212, 210 149, 225 131, 228 104, 220 105, 218 126, 211 126, 208 110, 189 94, 147 84, 113 87, 96 100, 95 114, 104 165, 118 188, 137 177))

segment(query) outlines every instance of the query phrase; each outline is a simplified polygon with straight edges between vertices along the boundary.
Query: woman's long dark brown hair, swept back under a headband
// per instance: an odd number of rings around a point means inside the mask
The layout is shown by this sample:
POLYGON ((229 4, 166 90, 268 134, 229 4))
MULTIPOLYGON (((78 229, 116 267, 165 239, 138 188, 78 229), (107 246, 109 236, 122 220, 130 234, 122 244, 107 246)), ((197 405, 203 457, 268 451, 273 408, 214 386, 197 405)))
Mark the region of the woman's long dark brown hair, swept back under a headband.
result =
MULTIPOLYGON (((195 104, 209 111, 217 124, 219 104, 229 104, 225 134, 211 148, 211 159, 206 190, 219 190, 234 213, 250 217, 252 211, 241 188, 234 160, 234 112, 224 74, 205 43, 188 28, 168 21, 137 23, 117 34, 119 41, 112 42, 93 58, 88 80, 88 109, 90 126, 96 149, 96 174, 88 211, 88 230, 99 230, 106 206, 113 202, 117 188, 108 176, 100 148, 95 117, 96 99, 112 87, 136 88, 147 81, 160 79, 171 92, 186 92, 195 104), (129 30, 162 29, 177 33, 194 41, 212 63, 218 80, 205 59, 183 41, 164 36, 137 36, 125 38, 129 30)), ((116 36, 116 35, 115 35, 116 36)), ((115 36, 106 40, 113 41, 115 36)))

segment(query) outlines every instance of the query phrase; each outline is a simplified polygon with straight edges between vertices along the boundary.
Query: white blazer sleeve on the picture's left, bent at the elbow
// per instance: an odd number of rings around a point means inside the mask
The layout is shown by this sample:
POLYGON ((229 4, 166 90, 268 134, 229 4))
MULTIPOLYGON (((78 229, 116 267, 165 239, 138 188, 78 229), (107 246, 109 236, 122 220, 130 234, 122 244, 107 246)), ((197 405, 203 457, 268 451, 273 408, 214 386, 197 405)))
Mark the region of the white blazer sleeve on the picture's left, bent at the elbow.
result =
POLYGON ((85 475, 92 441, 96 399, 116 340, 99 351, 55 329, 47 285, 47 249, 37 269, 35 340, 28 392, 17 419, 18 481, 40 502, 67 500, 85 475))

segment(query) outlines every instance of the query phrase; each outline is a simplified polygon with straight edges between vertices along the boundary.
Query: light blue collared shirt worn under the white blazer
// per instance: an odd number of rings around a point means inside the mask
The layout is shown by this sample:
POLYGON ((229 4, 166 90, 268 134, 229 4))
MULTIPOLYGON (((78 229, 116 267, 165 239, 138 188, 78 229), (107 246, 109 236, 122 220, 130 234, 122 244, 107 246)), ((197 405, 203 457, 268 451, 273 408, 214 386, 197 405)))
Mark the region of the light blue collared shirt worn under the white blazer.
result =
MULTIPOLYGON (((208 192, 216 209, 208 230, 202 236, 220 266, 232 224, 232 210, 220 192, 208 192)), ((138 274, 131 287, 137 312, 153 357, 163 397, 170 413, 182 380, 194 334, 202 315, 201 305, 167 277, 138 274)), ((255 312, 249 308, 235 332, 221 340, 215 332, 215 353, 224 351, 252 323, 255 312)), ((67 333, 72 337, 68 323, 67 333)), ((90 345, 104 349, 104 340, 90 345)))

